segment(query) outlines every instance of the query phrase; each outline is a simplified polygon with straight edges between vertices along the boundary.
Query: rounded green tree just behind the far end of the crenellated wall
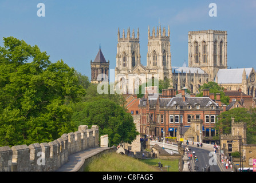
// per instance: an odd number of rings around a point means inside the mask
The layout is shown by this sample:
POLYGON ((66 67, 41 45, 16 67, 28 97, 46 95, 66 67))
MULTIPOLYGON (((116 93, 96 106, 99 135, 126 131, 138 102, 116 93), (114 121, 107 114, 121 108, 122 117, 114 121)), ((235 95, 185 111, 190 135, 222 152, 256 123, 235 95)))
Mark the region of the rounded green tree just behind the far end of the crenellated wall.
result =
POLYGON ((83 102, 80 107, 76 106, 76 110, 72 118, 76 126, 88 125, 89 128, 92 125, 99 126, 99 136, 108 134, 111 145, 121 142, 131 144, 139 134, 131 114, 111 100, 99 98, 83 102))

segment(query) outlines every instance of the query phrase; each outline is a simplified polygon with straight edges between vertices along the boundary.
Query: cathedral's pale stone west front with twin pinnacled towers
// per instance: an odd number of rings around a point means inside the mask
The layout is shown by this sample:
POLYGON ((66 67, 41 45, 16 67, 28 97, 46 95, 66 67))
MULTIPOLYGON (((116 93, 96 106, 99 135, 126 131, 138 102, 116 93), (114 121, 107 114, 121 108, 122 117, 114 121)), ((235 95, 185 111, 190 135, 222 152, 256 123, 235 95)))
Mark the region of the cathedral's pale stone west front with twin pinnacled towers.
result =
POLYGON ((141 83, 148 79, 171 79, 171 49, 170 49, 170 28, 161 30, 161 26, 153 27, 152 35, 148 27, 148 52, 147 66, 141 65, 139 29, 137 37, 135 32, 127 30, 127 37, 123 30, 123 37, 120 37, 118 30, 118 43, 116 54, 115 82, 119 83, 122 93, 136 94, 141 83), (166 35, 167 34, 167 35, 166 35))

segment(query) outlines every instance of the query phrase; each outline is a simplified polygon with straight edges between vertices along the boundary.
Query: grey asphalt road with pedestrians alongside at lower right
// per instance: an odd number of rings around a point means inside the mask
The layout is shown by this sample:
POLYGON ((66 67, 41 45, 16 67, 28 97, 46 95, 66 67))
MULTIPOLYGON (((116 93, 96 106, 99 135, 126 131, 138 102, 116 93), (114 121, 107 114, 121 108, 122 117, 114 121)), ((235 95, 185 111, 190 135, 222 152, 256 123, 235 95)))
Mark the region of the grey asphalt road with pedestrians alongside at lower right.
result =
MULTIPOLYGON (((203 172, 202 168, 210 166, 210 172, 221 172, 218 164, 214 159, 214 156, 210 152, 210 150, 202 149, 202 148, 195 148, 195 146, 188 146, 188 148, 191 149, 191 152, 195 151, 195 155, 198 157, 198 161, 192 161, 191 162, 191 171, 196 171, 196 172, 203 172), (194 170, 194 165, 198 166, 197 170, 194 170)), ((216 158, 219 158, 219 155, 217 153, 216 158)))

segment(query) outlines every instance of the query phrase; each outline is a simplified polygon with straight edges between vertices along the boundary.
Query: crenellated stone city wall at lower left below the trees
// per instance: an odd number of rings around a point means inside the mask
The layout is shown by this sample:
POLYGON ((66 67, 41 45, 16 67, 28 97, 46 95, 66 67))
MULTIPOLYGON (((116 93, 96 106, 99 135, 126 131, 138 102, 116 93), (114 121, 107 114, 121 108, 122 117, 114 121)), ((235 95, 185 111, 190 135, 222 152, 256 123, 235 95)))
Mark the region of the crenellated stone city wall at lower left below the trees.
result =
POLYGON ((0 172, 49 172, 68 162, 70 154, 99 146, 99 128, 78 127, 49 143, 0 147, 0 172))

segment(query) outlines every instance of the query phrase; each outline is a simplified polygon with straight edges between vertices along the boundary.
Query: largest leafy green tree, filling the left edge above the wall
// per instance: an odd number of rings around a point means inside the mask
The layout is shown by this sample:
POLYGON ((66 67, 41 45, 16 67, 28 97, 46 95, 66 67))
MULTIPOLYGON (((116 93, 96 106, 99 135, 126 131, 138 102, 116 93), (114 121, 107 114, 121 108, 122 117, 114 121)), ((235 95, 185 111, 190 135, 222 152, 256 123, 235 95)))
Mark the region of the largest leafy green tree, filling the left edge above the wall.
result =
POLYGON ((55 140, 72 132, 70 102, 85 94, 64 61, 51 63, 38 46, 3 38, 0 47, 0 146, 55 140))

